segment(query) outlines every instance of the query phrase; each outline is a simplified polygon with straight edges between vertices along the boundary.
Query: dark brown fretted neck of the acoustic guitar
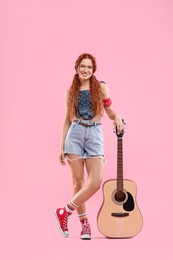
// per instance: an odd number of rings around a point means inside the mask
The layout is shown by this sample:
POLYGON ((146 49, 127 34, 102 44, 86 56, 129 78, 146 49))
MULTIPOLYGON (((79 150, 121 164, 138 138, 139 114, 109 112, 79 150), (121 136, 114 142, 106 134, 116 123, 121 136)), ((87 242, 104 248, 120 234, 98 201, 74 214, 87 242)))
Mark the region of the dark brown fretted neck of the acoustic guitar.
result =
POLYGON ((117 190, 123 190, 123 138, 117 138, 117 190))

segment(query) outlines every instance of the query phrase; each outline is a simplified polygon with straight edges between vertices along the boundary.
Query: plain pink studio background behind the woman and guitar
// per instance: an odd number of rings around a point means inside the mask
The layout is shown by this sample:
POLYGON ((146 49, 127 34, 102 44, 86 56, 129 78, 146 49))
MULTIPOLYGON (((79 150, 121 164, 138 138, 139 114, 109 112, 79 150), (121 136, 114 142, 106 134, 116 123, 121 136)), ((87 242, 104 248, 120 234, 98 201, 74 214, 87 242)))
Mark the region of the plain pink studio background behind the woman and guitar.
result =
MULTIPOLYGON (((6 0, 0 19, 1 259, 172 259, 173 1, 6 0), (97 230, 101 190, 87 203, 91 241, 79 239, 76 213, 68 239, 57 229, 54 208, 72 192, 57 159, 64 96, 83 52, 96 56, 96 76, 127 122, 124 176, 137 183, 144 218, 132 239, 97 230)), ((103 130, 105 181, 116 176, 106 116, 103 130)))

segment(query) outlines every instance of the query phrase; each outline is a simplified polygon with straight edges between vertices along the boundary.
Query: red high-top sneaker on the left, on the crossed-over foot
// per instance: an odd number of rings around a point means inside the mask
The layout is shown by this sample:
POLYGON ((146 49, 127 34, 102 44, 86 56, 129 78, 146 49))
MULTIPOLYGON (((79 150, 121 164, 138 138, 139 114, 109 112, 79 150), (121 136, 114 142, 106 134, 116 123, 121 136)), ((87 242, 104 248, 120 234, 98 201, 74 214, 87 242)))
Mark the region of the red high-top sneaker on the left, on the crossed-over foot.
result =
POLYGON ((65 237, 69 236, 67 220, 70 215, 71 213, 67 212, 65 208, 60 208, 55 210, 55 217, 58 220, 59 230, 61 234, 65 237))

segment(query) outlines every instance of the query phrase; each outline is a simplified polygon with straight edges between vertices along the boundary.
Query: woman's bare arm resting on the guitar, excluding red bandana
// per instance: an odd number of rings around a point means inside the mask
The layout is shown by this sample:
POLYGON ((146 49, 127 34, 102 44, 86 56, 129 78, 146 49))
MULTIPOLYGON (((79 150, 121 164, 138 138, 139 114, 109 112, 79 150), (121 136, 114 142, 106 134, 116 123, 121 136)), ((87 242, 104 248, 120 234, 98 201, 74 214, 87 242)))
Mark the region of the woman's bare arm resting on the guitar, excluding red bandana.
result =
MULTIPOLYGON (((106 83, 101 83, 100 85, 102 89, 103 99, 110 98, 109 90, 106 83)), ((105 107, 105 111, 107 116, 114 121, 114 126, 117 127, 118 133, 121 133, 121 131, 124 129, 121 116, 114 111, 112 104, 108 107, 105 107)))

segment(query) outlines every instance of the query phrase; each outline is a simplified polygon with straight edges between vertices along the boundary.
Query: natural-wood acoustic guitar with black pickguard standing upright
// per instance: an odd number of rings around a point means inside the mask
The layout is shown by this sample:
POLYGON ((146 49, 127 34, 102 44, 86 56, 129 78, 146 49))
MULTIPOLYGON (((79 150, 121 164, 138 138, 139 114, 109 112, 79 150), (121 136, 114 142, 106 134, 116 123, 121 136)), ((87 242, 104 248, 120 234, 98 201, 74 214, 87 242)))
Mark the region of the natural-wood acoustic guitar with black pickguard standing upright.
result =
POLYGON ((109 238, 130 238, 143 226, 136 202, 136 184, 123 179, 123 134, 117 133, 117 179, 103 184, 103 203, 97 215, 99 231, 109 238))

